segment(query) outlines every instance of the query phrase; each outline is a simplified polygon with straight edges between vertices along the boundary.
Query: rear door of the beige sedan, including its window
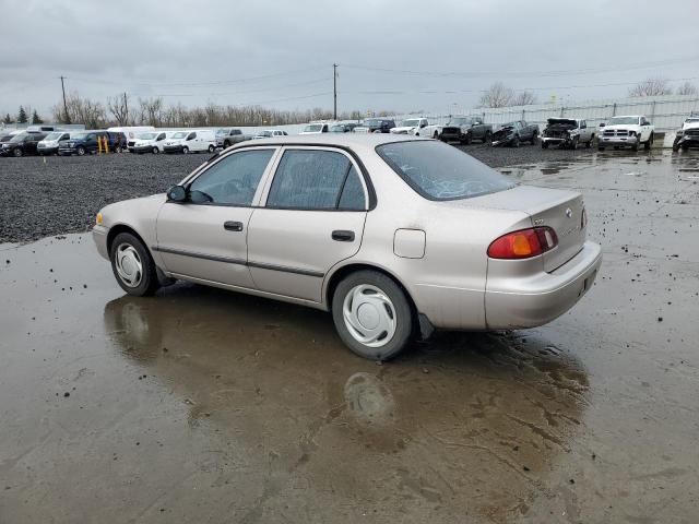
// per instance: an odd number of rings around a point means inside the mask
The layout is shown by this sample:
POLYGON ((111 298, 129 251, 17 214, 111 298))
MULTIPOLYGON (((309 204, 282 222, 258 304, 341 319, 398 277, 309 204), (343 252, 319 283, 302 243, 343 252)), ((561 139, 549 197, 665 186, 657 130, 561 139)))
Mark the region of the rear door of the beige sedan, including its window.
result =
POLYGON ((368 189, 356 160, 332 147, 285 147, 248 228, 259 289, 320 302, 323 277, 359 249, 368 189))

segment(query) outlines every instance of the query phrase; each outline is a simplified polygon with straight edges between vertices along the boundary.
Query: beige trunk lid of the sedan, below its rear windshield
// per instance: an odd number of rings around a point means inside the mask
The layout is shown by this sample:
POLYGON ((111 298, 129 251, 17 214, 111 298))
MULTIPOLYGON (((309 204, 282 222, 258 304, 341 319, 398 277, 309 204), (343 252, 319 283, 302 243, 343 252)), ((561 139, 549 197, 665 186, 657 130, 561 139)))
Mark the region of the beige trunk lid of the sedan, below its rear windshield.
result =
MULTIPOLYGON (((544 271, 552 272, 572 259, 585 242, 582 195, 532 186, 517 188, 469 200, 471 205, 526 213, 532 226, 548 226, 556 231, 558 246, 543 254, 544 271)), ((502 231, 508 233, 508 231, 502 231)))

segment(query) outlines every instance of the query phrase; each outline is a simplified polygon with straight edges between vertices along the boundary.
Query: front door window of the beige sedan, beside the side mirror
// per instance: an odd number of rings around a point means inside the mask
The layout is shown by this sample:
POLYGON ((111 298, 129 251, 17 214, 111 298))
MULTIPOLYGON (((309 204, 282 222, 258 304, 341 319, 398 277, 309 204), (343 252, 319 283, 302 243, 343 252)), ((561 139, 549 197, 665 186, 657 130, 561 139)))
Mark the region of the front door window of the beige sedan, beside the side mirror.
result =
POLYGON ((251 205, 274 150, 240 151, 222 158, 189 187, 197 204, 251 205))

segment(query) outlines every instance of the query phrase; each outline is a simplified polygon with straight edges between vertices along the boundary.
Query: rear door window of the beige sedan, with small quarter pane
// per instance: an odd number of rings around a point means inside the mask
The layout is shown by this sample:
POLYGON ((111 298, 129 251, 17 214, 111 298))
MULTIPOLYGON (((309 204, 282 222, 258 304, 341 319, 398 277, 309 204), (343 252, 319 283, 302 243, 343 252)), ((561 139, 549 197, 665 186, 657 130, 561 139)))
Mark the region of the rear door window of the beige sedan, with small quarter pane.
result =
POLYGON ((274 175, 268 207, 293 210, 366 209, 364 187, 342 153, 318 150, 286 151, 274 175))

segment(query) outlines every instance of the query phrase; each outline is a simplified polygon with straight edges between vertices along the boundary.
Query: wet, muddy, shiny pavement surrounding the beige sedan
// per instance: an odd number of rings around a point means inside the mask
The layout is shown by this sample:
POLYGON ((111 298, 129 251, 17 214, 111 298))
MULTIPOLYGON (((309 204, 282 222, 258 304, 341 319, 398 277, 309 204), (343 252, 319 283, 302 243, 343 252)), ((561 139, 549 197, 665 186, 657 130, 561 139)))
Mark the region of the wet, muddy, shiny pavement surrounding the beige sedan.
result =
POLYGON ((699 154, 500 170, 583 193, 593 288, 381 366, 321 311, 129 297, 85 234, 0 245, 0 523, 697 522, 699 154))

